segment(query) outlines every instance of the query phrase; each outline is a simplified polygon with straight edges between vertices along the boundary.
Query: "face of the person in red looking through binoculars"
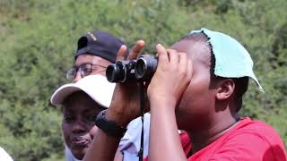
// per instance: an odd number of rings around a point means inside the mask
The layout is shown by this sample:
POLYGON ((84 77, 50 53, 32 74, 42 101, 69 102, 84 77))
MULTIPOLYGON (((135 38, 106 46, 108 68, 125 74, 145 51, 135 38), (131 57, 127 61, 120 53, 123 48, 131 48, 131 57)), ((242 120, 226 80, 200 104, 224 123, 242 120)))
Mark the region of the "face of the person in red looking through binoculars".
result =
POLYGON ((208 117, 214 113, 215 90, 211 89, 211 56, 202 42, 181 40, 172 48, 187 53, 192 59, 192 79, 177 108, 178 129, 200 129, 208 126, 208 117))

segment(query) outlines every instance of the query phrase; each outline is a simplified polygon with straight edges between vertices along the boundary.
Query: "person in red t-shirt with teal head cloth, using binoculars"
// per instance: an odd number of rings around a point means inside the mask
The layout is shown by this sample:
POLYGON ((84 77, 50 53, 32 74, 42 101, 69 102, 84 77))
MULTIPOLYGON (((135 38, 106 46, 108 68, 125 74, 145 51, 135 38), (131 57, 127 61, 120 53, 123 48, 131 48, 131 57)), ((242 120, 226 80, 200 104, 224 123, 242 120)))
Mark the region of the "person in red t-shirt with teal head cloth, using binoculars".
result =
MULTIPOLYGON (((239 115, 248 78, 263 89, 248 51, 237 40, 202 29, 170 49, 158 44, 156 50, 159 62, 147 88, 149 160, 286 160, 283 141, 272 127, 239 115), (178 129, 187 133, 179 136, 178 129)), ((125 53, 121 47, 117 61, 125 53)), ((101 124, 84 160, 112 160, 119 138, 107 126, 117 131, 138 116, 136 87, 136 81, 117 83, 109 109, 96 120, 115 124, 101 124)))

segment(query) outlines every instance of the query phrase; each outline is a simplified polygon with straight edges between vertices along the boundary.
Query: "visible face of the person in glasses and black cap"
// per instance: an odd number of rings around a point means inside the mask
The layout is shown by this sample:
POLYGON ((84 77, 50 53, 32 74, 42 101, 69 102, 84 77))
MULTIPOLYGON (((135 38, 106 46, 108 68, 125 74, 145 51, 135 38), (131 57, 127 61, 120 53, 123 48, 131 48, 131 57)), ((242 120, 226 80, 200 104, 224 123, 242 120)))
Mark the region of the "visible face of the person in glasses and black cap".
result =
MULTIPOLYGON (((92 65, 92 71, 91 74, 100 74, 103 76, 106 76, 106 68, 109 64, 111 64, 109 61, 101 58, 100 56, 96 55, 79 55, 75 60, 75 66, 79 67, 83 64, 93 64, 92 65)), ((77 80, 83 79, 81 73, 78 71, 76 72, 76 75, 74 77, 74 82, 77 80)))

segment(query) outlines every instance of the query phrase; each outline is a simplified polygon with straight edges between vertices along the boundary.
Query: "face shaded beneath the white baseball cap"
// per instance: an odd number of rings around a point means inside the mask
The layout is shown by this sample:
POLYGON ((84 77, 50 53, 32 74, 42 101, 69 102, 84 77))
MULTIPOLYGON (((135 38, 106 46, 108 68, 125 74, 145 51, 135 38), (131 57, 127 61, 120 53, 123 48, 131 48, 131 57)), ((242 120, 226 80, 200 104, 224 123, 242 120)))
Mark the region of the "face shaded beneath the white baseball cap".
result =
POLYGON ((83 159, 95 133, 95 118, 104 107, 84 92, 75 92, 65 99, 62 131, 65 143, 74 157, 83 159))

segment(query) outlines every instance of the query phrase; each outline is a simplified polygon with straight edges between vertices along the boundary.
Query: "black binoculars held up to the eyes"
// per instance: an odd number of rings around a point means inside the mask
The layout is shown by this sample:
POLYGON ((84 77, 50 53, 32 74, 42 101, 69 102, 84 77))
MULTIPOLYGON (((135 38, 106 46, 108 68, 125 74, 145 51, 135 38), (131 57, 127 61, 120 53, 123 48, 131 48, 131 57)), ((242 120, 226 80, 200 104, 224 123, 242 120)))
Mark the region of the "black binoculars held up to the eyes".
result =
POLYGON ((106 77, 109 82, 151 80, 157 66, 157 56, 141 55, 134 60, 117 61, 115 64, 110 64, 106 71, 106 77))

